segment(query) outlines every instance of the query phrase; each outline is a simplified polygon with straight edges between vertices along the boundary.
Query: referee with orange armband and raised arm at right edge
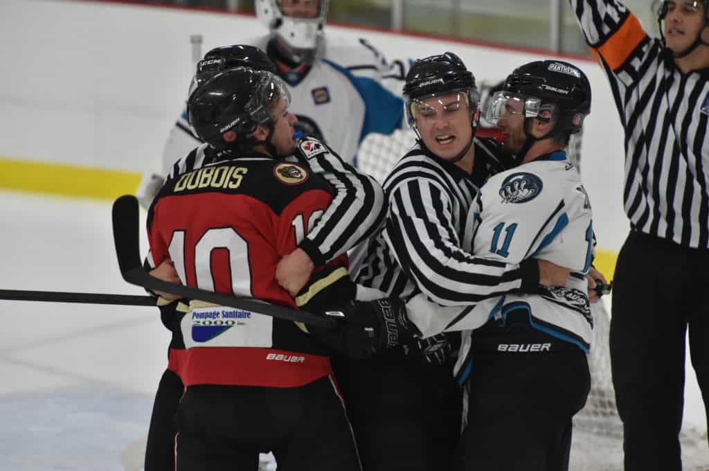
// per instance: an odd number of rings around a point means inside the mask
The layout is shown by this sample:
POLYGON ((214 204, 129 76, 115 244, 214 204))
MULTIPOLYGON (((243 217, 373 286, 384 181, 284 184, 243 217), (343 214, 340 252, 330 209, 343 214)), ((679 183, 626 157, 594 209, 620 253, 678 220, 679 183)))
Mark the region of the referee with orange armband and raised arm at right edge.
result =
POLYGON ((657 40, 617 0, 570 2, 625 128, 630 235, 610 321, 625 470, 681 470, 687 327, 709 400, 708 4, 656 2, 657 40))

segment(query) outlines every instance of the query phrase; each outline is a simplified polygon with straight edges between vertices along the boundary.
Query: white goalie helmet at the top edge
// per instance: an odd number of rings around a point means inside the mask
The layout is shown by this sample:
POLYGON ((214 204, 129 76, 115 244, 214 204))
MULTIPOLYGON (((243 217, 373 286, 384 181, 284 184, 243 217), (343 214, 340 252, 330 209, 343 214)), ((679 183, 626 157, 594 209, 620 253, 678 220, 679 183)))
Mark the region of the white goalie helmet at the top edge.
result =
POLYGON ((256 16, 295 51, 314 50, 323 35, 329 0, 256 0, 256 16), (288 9, 315 6, 313 16, 290 16, 288 9))

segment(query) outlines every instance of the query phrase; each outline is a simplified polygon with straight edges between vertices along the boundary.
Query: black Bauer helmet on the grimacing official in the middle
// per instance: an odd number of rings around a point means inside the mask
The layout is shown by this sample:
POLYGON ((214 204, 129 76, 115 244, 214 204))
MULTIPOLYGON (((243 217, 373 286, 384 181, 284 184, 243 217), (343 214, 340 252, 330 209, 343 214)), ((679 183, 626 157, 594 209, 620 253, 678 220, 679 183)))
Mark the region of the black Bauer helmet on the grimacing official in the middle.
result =
POLYGON ((416 126, 416 116, 419 104, 436 96, 443 96, 459 93, 467 101, 466 106, 470 110, 470 123, 473 128, 473 135, 470 143, 464 148, 457 158, 461 159, 469 150, 475 137, 476 112, 478 111, 478 89, 475 86, 475 77, 470 72, 463 61, 453 52, 444 52, 440 55, 432 55, 416 60, 408 74, 406 74, 406 84, 403 87, 403 95, 406 101, 406 119, 408 125, 418 135, 421 135, 416 126))

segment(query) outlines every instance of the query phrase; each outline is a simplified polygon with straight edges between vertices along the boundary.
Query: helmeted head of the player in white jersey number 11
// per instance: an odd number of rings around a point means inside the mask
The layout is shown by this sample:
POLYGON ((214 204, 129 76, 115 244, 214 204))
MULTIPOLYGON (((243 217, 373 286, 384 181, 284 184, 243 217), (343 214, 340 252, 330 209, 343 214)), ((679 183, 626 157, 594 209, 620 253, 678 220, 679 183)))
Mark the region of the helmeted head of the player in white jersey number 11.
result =
POLYGON ((536 143, 552 138, 566 146, 590 112, 586 74, 567 62, 542 60, 518 67, 507 77, 489 101, 486 120, 498 123, 503 148, 519 165, 536 143))

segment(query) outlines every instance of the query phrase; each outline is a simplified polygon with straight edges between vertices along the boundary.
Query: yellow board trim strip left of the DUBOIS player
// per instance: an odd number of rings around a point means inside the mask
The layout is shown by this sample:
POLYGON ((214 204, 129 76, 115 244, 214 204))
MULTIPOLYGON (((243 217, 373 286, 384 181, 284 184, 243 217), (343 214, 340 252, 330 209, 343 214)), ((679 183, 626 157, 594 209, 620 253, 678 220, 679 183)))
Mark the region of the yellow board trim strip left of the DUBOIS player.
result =
POLYGON ((0 157, 0 188, 19 192, 116 199, 135 194, 140 173, 0 157))

